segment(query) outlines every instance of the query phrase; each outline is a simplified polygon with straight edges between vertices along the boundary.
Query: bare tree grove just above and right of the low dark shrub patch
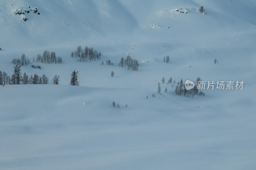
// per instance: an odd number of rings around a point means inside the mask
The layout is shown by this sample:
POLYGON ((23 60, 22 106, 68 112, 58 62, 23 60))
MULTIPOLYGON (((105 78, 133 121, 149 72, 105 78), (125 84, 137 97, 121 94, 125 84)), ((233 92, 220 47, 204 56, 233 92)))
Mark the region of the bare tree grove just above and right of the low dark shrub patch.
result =
MULTIPOLYGON (((34 61, 35 61, 35 58, 33 58, 33 62, 34 61)), ((48 63, 48 64, 62 63, 62 58, 60 56, 58 56, 58 58, 57 58, 54 51, 50 52, 50 51, 45 50, 43 55, 38 54, 36 56, 36 62, 48 63)))

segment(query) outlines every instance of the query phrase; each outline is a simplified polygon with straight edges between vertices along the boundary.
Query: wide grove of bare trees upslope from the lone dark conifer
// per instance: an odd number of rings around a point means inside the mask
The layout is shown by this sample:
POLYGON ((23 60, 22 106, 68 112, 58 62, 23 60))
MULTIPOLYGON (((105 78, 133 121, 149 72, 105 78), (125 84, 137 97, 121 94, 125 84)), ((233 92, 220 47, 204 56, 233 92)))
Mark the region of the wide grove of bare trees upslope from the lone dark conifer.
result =
POLYGON ((76 48, 76 51, 71 52, 71 57, 78 57, 77 61, 79 62, 88 62, 100 60, 101 52, 94 50, 92 47, 88 48, 87 46, 83 49, 81 46, 76 48))

